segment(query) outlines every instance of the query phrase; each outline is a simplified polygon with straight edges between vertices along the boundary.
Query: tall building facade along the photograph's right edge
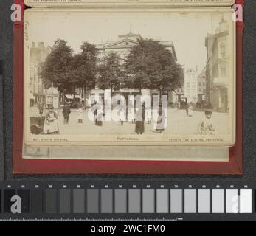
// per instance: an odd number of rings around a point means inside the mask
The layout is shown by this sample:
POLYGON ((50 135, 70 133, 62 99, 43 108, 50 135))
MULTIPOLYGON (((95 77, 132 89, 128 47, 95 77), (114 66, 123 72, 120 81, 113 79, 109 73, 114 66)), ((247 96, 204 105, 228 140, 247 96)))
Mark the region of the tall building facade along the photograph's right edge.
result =
POLYGON ((215 34, 207 35, 207 94, 215 111, 227 112, 229 107, 229 21, 224 19, 215 34))

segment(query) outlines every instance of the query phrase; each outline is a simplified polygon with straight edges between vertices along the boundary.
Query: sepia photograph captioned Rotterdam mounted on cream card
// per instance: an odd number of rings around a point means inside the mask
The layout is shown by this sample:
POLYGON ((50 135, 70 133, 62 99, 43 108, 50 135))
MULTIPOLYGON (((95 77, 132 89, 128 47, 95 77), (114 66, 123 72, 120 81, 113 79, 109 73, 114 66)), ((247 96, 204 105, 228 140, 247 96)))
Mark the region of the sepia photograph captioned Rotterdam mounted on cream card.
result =
POLYGON ((233 10, 26 10, 27 145, 233 145, 233 10))

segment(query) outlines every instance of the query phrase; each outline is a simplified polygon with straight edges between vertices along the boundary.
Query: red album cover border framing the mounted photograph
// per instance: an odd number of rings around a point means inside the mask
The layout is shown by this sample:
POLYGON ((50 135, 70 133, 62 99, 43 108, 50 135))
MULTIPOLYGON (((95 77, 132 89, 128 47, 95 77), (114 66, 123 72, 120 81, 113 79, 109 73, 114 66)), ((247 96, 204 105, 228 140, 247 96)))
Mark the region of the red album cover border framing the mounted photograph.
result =
MULTIPOLYGON (((22 0, 15 0, 24 12, 22 0)), ((243 0, 237 0, 236 27, 236 142, 229 147, 229 162, 134 161, 134 160, 64 160, 23 159, 24 111, 24 21, 14 23, 13 41, 13 173, 159 173, 159 174, 242 174, 242 65, 243 65, 243 0)))

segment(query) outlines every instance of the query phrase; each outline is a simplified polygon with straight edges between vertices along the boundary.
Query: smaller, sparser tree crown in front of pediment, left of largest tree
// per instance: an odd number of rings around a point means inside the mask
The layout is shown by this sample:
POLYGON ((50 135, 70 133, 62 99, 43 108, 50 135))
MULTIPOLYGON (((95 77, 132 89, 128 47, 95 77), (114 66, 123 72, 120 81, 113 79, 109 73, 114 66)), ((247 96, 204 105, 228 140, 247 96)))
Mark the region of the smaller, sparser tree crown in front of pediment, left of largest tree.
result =
POLYGON ((121 58, 115 52, 109 52, 100 59, 98 66, 97 86, 100 89, 120 89, 122 84, 121 58))

